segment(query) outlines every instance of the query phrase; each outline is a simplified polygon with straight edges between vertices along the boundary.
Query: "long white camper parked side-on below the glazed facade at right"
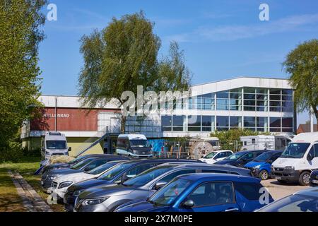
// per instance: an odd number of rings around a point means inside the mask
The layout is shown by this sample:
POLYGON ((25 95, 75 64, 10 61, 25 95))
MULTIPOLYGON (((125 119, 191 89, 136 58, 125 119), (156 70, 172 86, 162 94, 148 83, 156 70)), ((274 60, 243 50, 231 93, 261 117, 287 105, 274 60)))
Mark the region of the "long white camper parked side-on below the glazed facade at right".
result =
POLYGON ((291 141, 287 136, 241 136, 241 150, 284 150, 291 141))

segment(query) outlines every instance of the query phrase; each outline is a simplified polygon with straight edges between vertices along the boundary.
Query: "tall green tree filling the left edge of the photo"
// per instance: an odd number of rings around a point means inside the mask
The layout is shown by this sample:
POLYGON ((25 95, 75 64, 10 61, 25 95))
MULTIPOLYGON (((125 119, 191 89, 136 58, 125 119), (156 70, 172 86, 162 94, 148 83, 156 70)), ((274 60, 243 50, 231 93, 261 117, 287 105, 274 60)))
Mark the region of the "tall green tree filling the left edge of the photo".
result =
POLYGON ((40 105, 38 44, 44 38, 40 13, 45 0, 0 0, 0 149, 7 160, 20 147, 23 122, 40 105), (13 150, 14 149, 14 150, 13 150), (6 152, 6 153, 5 153, 6 152), (6 157, 7 156, 7 157, 6 157))

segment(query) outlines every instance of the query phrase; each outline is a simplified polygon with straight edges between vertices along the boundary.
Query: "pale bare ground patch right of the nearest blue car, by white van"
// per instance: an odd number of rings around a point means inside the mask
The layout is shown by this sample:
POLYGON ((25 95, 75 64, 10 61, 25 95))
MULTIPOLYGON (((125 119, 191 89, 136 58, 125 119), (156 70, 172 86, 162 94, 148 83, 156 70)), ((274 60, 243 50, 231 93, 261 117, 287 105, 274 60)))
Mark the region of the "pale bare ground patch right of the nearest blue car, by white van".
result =
POLYGON ((269 189, 269 193, 274 200, 284 198, 285 196, 294 194, 297 191, 309 188, 309 186, 300 186, 297 183, 280 184, 276 179, 262 181, 261 184, 269 189))

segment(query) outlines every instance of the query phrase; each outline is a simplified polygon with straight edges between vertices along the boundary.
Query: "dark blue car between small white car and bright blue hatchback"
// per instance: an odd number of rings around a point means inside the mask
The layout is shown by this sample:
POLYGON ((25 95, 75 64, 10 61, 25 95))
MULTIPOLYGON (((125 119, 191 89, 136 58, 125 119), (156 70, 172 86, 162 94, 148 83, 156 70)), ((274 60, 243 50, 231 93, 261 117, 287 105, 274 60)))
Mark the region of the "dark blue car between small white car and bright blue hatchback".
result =
POLYGON ((224 160, 220 160, 215 164, 218 165, 234 165, 235 167, 244 167, 247 162, 251 162, 255 157, 265 153, 268 150, 242 150, 234 153, 224 160))

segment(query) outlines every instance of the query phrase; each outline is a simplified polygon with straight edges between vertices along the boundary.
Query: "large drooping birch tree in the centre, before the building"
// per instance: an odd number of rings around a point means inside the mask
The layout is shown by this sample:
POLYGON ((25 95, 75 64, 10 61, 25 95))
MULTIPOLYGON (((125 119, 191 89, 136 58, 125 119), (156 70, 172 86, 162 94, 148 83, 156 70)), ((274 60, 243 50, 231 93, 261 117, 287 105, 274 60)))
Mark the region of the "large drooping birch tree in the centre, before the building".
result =
MULTIPOLYGON (((144 91, 189 89, 190 73, 183 52, 172 42, 169 57, 159 60, 161 42, 153 26, 141 11, 113 18, 103 30, 82 37, 84 66, 78 94, 83 105, 93 108, 114 98, 122 107, 122 93, 131 91, 136 96, 138 85, 143 85, 144 91)), ((125 124, 126 116, 122 115, 122 133, 125 124)))

